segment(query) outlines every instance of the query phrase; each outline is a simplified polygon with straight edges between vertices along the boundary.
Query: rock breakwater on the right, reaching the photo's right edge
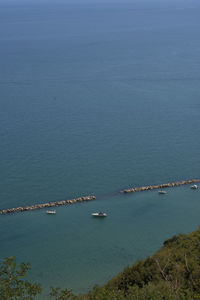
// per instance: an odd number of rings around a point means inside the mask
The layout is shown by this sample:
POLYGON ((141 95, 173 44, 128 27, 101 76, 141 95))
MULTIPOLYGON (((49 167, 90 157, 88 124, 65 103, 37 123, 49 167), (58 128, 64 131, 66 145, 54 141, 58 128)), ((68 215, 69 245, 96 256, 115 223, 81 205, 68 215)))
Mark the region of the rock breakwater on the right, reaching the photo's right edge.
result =
POLYGON ((142 192, 142 191, 162 189, 162 188, 167 188, 167 187, 175 187, 175 186, 180 186, 180 185, 184 185, 184 184, 192 184, 192 183, 197 183, 197 182, 200 182, 200 179, 189 179, 189 180, 183 180, 183 181, 177 181, 177 182, 168 182, 168 183, 163 183, 163 184, 158 184, 158 185, 134 187, 134 188, 123 190, 123 193, 142 192))

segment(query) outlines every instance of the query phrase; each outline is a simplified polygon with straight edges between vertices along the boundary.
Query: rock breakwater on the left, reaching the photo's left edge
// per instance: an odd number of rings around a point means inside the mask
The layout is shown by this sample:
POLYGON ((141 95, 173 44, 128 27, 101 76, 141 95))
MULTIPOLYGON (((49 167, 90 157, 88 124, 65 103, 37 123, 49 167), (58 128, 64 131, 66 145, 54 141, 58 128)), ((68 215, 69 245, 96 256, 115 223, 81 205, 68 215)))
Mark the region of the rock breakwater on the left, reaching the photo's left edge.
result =
POLYGON ((67 204, 73 204, 77 202, 84 202, 84 201, 91 201, 95 200, 95 196, 86 196, 86 197, 80 197, 72 200, 62 200, 62 201, 55 201, 55 202, 48 202, 48 203, 42 203, 42 204, 35 204, 31 206, 20 206, 15 208, 8 208, 0 210, 0 215, 5 215, 9 213, 15 213, 15 212, 23 212, 23 211, 29 211, 29 210, 36 210, 41 208, 49 208, 49 207, 55 207, 55 206, 61 206, 61 205, 67 205, 67 204))

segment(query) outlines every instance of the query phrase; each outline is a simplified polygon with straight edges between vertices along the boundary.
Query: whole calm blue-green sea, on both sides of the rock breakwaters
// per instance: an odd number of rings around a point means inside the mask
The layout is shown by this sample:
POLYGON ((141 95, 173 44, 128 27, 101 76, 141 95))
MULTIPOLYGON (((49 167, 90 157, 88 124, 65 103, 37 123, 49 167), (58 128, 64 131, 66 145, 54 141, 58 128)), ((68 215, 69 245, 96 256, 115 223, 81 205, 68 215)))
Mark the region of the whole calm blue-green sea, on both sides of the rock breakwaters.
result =
MULTIPOLYGON (((85 292, 199 225, 199 191, 121 195, 199 178, 200 3, 0 1, 0 257, 85 292), (108 218, 91 213, 105 210, 108 218)), ((43 299, 44 299, 43 295, 43 299)))

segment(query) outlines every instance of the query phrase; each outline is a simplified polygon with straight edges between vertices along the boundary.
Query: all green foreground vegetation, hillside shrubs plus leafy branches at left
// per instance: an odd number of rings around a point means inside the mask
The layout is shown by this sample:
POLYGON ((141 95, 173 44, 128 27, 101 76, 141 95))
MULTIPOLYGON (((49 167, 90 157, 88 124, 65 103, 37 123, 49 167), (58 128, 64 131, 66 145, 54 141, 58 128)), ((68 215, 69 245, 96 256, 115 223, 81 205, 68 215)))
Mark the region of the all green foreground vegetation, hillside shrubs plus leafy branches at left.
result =
MULTIPOLYGON (((29 266, 21 264, 17 271, 13 258, 0 264, 0 299, 33 299, 40 293, 39 285, 18 279, 27 269, 29 266)), ((55 300, 200 299, 200 231, 166 240, 153 256, 125 268, 107 284, 95 286, 88 294, 75 296, 70 290, 51 288, 49 297, 55 300)))

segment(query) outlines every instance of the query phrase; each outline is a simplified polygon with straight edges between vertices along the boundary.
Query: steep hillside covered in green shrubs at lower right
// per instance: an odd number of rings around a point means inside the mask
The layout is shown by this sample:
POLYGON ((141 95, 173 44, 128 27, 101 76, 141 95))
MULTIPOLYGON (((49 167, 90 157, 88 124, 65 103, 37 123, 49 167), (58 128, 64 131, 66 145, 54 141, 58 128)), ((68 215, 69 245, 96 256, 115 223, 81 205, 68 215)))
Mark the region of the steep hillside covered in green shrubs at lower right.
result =
MULTIPOLYGON (((85 299, 200 299, 200 231, 166 240, 85 299)), ((82 299, 82 298, 80 298, 82 299)))

